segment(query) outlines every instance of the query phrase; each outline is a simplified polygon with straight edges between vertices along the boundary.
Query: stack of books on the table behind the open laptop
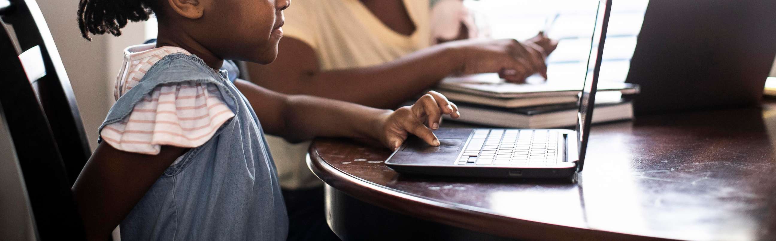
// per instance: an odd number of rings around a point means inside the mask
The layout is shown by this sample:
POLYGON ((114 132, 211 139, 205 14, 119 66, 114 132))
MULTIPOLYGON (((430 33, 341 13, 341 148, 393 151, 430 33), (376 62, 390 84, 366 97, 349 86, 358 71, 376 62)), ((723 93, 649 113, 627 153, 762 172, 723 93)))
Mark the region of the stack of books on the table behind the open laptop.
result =
MULTIPOLYGON (((459 122, 507 128, 559 128, 577 124, 582 86, 512 84, 495 74, 447 77, 434 90, 458 105, 459 122)), ((599 82, 593 122, 633 119, 632 102, 622 95, 639 93, 636 84, 599 82)))

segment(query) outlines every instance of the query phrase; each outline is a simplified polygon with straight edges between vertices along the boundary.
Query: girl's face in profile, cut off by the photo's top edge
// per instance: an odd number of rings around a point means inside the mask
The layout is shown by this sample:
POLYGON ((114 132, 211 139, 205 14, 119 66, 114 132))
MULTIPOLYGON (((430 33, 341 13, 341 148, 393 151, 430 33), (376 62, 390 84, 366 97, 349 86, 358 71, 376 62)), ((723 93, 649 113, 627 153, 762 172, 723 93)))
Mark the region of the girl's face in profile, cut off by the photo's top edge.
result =
MULTIPOLYGON (((208 2, 200 25, 207 33, 199 38, 218 57, 269 64, 278 55, 283 35, 282 10, 290 0, 216 0, 208 2)), ((202 33, 202 32, 200 32, 202 33)))

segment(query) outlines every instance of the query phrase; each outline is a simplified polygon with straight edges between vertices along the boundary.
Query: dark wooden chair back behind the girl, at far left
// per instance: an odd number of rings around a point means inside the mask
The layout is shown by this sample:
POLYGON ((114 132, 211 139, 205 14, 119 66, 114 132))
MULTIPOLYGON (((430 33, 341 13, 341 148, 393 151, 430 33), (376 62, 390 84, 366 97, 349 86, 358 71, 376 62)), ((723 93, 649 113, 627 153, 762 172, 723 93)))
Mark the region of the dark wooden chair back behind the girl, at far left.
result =
POLYGON ((91 155, 73 91, 34 0, 0 0, 0 107, 39 239, 84 239, 71 186, 91 155))

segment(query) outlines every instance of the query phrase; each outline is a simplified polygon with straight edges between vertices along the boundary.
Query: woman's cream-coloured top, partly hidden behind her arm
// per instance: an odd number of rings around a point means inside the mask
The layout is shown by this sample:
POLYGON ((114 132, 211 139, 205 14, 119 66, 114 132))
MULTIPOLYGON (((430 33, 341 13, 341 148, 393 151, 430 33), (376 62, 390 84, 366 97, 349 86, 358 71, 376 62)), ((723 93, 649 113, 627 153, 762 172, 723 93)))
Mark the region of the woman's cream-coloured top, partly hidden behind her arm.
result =
MULTIPOLYGON (((404 0, 404 6, 415 24, 411 36, 390 29, 359 0, 294 0, 284 11, 283 35, 310 45, 322 71, 384 64, 431 43, 428 0, 404 0)), ((267 141, 282 188, 321 184, 305 163, 310 142, 267 141)))

